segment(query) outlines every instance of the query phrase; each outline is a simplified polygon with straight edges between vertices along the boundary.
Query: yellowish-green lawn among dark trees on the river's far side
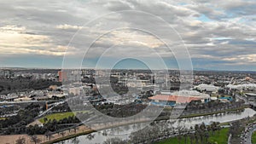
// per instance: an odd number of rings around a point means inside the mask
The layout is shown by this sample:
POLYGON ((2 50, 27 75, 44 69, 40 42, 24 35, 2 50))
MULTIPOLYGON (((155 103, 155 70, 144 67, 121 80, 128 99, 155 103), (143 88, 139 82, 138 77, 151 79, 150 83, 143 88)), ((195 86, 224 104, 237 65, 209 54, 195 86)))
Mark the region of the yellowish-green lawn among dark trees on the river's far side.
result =
MULTIPOLYGON (((79 112, 88 112, 88 111, 79 111, 79 112)), ((41 123, 44 123, 44 118, 47 118, 48 120, 54 120, 56 119, 57 121, 58 120, 61 120, 61 119, 64 119, 64 118, 68 118, 68 117, 73 117, 77 114, 78 112, 60 112, 60 113, 52 113, 52 114, 49 114, 47 116, 44 116, 43 118, 40 118, 39 119, 39 122, 41 123)))

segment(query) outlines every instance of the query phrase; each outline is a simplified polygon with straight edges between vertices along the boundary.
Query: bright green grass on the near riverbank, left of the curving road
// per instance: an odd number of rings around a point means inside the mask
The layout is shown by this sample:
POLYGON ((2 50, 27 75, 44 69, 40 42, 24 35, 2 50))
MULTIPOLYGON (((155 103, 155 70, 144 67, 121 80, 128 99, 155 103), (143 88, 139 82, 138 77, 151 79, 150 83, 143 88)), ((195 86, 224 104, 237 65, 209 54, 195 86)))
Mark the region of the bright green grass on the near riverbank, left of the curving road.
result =
MULTIPOLYGON (((218 132, 216 132, 215 135, 211 135, 209 137, 209 142, 211 142, 211 143, 215 142, 217 144, 227 143, 227 141, 229 139, 228 133, 229 133, 229 128, 224 128, 224 129, 220 130, 219 134, 218 134, 218 132)), ((188 140, 189 140, 189 138, 188 138, 188 140)), ((184 144, 184 143, 185 143, 184 138, 179 143, 177 141, 177 138, 173 137, 173 138, 167 139, 165 141, 160 141, 157 144, 184 144)), ((187 143, 190 143, 190 140, 187 143)), ((194 141, 194 143, 195 143, 195 141, 194 141)))

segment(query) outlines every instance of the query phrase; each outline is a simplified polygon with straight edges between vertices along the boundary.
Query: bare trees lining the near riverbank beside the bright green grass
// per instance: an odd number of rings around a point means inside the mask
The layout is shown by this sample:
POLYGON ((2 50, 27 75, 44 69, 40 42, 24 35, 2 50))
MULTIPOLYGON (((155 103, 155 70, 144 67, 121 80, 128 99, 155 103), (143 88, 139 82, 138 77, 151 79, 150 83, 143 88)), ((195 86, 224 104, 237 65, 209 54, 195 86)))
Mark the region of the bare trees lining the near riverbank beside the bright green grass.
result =
POLYGON ((179 144, 210 144, 209 137, 216 135, 216 132, 221 130, 219 123, 213 122, 210 125, 195 124, 195 127, 186 129, 183 126, 173 128, 170 124, 162 122, 154 122, 143 130, 138 130, 131 133, 129 140, 122 140, 119 137, 110 138, 104 141, 104 144, 121 144, 121 143, 156 143, 168 139, 170 137, 177 137, 179 144), (183 140, 183 141, 182 141, 183 140))

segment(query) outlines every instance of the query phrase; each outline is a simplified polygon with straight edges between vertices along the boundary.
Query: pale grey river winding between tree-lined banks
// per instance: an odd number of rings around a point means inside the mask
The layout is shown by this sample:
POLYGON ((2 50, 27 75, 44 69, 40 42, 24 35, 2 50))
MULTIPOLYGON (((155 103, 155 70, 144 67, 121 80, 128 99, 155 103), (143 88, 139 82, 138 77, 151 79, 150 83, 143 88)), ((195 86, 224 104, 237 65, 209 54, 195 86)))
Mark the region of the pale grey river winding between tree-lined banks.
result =
MULTIPOLYGON (((172 124, 173 127, 187 127, 195 126, 195 124, 210 124, 211 122, 225 123, 241 118, 252 117, 256 112, 251 108, 246 108, 243 112, 231 112, 231 113, 221 113, 212 116, 203 116, 196 118, 181 118, 181 119, 172 119, 168 120, 169 124, 172 124)), ((94 132, 90 135, 81 135, 76 138, 58 142, 59 144, 101 144, 103 141, 106 141, 108 138, 119 137, 123 140, 128 139, 132 131, 140 130, 146 124, 130 124, 125 126, 120 126, 118 128, 101 130, 94 132), (105 135, 107 134, 107 135, 105 135)))

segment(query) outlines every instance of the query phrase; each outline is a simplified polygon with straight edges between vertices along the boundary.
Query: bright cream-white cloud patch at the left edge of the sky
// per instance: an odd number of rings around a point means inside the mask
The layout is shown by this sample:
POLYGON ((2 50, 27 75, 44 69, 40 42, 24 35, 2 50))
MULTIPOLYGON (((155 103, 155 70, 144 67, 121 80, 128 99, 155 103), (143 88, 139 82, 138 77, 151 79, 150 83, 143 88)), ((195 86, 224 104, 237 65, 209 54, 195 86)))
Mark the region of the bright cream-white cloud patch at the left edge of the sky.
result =
MULTIPOLYGON (((1 55, 56 55, 61 56, 67 47, 55 45, 49 36, 30 34, 26 27, 0 27, 1 55)), ((72 49, 72 48, 71 48, 72 49)))

